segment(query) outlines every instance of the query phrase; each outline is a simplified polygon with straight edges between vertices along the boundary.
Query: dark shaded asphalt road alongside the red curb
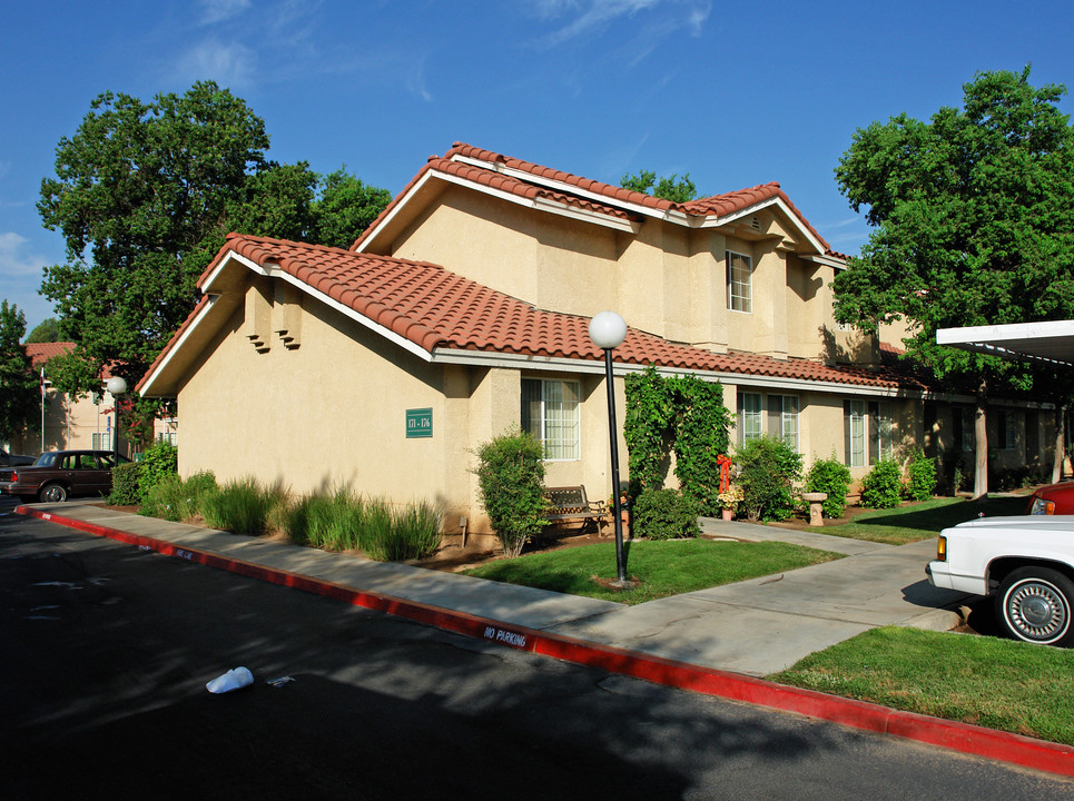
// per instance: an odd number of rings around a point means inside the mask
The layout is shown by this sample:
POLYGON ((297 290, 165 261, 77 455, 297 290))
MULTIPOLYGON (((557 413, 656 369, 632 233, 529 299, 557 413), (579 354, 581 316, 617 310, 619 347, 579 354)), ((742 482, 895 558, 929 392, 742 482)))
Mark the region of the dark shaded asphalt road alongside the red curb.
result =
POLYGON ((0 631, 10 799, 1074 797, 10 514, 0 631), (237 665, 254 686, 205 690, 237 665))

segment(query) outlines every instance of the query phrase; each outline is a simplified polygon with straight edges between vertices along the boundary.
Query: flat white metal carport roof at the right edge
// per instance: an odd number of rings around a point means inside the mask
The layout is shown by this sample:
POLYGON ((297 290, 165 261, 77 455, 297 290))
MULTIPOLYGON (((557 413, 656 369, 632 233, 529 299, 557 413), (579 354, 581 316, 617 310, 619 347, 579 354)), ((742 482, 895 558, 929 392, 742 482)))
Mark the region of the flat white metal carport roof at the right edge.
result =
POLYGON ((1074 369, 1074 320, 940 328, 936 344, 1074 369))

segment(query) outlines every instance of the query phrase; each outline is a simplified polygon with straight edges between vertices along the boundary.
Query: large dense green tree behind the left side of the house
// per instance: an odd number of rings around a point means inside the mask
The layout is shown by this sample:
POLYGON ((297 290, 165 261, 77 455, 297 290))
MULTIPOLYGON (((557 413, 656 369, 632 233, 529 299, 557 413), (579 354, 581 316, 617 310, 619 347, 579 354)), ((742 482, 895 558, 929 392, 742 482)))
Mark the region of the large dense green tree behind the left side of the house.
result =
POLYGON ((67 244, 41 287, 78 343, 50 364, 59 388, 96 387, 106 364, 134 386, 194 308, 197 278, 228 233, 325 231, 349 245, 390 200, 345 170, 322 177, 305 162, 270 161, 268 146, 264 121, 213 82, 151 102, 93 100, 57 146, 38 202, 67 244), (367 207, 341 208, 341 196, 367 207))

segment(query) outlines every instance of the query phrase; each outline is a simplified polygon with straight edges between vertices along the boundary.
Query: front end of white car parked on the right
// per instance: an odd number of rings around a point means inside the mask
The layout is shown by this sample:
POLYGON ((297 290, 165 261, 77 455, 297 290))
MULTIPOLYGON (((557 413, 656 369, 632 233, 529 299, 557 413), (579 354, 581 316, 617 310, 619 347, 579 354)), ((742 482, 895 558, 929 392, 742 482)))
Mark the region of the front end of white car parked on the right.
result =
POLYGON ((928 581, 992 595, 1016 640, 1074 645, 1074 515, 981 517, 940 532, 928 581))

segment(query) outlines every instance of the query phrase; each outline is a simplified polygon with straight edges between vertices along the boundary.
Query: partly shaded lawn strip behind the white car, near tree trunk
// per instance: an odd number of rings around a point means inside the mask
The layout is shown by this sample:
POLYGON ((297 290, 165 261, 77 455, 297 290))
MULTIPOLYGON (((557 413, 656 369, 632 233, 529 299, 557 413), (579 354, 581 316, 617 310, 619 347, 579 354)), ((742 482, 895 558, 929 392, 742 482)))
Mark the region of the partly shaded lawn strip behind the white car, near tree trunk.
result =
POLYGON ((1025 497, 987 497, 983 501, 965 498, 934 498, 894 510, 863 512, 849 523, 810 527, 808 531, 851 540, 869 540, 889 545, 927 540, 949 526, 973 520, 1025 513, 1025 497))

